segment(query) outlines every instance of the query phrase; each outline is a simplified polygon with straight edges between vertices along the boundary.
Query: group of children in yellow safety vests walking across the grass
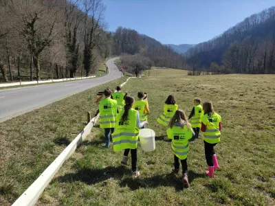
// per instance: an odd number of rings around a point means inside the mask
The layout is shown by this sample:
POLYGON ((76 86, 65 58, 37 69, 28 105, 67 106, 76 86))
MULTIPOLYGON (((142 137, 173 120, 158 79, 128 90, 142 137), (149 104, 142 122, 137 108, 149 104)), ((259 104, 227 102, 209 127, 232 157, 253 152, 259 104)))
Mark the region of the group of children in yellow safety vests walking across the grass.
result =
MULTIPOLYGON (((110 89, 104 90, 104 100, 98 103, 100 113, 100 127, 104 128, 105 148, 109 148, 110 138, 113 139, 115 152, 124 150, 121 163, 126 165, 128 155, 131 151, 131 165, 133 176, 140 176, 137 171, 137 141, 140 128, 144 128, 147 122, 147 115, 150 114, 146 94, 137 93, 138 100, 134 100, 127 93, 117 87, 117 92, 111 93, 110 89), (145 100, 144 100, 145 99, 145 100)), ((221 116, 214 112, 212 102, 194 100, 195 106, 189 117, 184 111, 178 109, 175 98, 169 95, 164 104, 164 113, 157 119, 159 124, 167 126, 167 135, 172 139, 171 147, 174 153, 173 172, 179 172, 179 160, 181 161, 183 184, 189 187, 188 183, 188 141, 199 138, 199 132, 203 133, 203 141, 208 164, 206 174, 212 178, 214 169, 219 168, 214 146, 220 141, 221 116), (189 123, 190 122, 190 123, 189 123)))

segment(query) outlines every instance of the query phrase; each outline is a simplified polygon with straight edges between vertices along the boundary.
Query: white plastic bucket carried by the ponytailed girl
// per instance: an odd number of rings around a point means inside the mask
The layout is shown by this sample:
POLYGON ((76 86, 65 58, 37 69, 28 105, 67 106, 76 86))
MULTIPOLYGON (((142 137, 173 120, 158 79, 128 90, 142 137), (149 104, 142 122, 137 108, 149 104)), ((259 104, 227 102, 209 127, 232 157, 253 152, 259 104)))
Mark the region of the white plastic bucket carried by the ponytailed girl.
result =
POLYGON ((140 130, 140 146, 144 152, 152 152, 155 150, 155 132, 149 128, 140 130))

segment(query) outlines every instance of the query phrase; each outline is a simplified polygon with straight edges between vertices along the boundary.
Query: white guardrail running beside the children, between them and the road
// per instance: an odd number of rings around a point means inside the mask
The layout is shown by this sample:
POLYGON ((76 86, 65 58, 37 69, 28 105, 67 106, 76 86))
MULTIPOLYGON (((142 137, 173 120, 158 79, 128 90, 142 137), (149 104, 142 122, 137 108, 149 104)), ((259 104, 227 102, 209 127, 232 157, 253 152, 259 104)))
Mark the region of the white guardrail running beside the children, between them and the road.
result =
MULTIPOLYGON (((128 82, 130 78, 128 78, 125 82, 123 82, 120 86, 123 87, 126 82, 128 82)), ((61 168, 66 159, 69 159, 76 148, 82 143, 82 141, 91 133, 91 128, 93 128, 94 124, 98 121, 99 114, 91 119, 89 124, 85 126, 85 128, 77 135, 77 137, 61 152, 61 154, 47 167, 47 169, 39 176, 30 187, 21 194, 21 196, 13 203, 12 206, 30 206, 35 205, 35 203, 39 200, 39 196, 45 190, 45 187, 52 181, 54 175, 61 168)))

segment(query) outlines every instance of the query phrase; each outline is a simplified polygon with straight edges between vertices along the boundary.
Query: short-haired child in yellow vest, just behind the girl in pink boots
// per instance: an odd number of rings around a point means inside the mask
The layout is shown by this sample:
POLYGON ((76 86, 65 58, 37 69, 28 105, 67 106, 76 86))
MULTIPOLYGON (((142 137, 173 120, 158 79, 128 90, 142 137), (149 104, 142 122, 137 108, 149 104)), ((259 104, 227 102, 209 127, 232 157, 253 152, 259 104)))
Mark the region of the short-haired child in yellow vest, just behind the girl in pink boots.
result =
POLYGON ((195 132, 194 137, 199 138, 199 130, 201 129, 201 117, 203 116, 203 109, 201 106, 201 100, 199 98, 195 98, 194 107, 188 117, 190 119, 190 124, 192 124, 192 128, 195 132))

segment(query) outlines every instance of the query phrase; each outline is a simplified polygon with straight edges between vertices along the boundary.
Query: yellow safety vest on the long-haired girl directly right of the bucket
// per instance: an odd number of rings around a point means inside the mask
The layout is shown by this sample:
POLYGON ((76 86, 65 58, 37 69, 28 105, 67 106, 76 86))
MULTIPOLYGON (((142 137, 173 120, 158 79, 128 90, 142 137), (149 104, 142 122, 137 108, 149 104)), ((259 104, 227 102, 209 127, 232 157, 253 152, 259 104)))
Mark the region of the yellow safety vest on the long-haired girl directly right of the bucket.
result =
POLYGON ((179 159, 186 159, 189 146, 188 140, 192 138, 192 128, 188 128, 184 125, 184 128, 174 124, 173 128, 168 128, 167 135, 169 139, 172 139, 172 150, 174 155, 179 159))

